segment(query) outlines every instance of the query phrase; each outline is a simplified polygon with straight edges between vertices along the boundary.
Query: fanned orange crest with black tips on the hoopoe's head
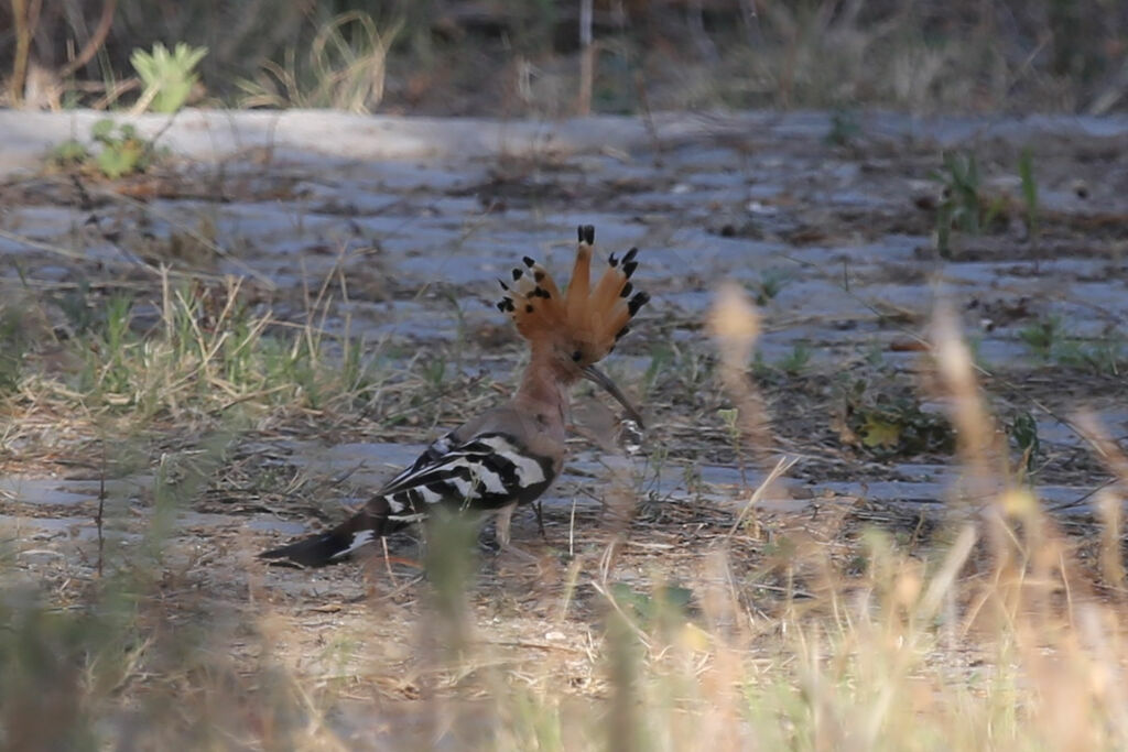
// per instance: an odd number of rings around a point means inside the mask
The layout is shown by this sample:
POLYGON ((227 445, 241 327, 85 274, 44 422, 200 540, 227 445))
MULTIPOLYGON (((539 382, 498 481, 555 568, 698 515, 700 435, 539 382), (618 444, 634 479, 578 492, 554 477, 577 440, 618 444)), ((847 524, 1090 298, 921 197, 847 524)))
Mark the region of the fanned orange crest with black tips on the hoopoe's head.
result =
MULTIPOLYGON (((582 343, 581 365, 594 363, 615 347, 629 328, 627 322, 638 312, 650 295, 634 292, 631 275, 638 263, 637 248, 622 259, 611 254, 599 281, 591 285, 592 244, 596 228, 580 225, 580 247, 572 267, 567 290, 561 292, 552 275, 540 264, 525 257, 525 268, 512 272, 512 281, 501 282, 505 297, 497 309, 508 312, 517 330, 534 346, 550 343, 582 343), (633 293, 633 294, 632 294, 633 293)), ((579 352, 579 351, 578 351, 579 352)))

